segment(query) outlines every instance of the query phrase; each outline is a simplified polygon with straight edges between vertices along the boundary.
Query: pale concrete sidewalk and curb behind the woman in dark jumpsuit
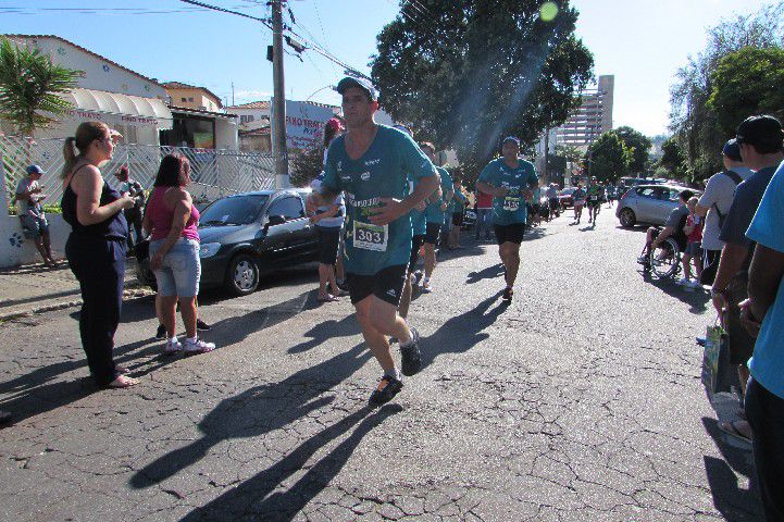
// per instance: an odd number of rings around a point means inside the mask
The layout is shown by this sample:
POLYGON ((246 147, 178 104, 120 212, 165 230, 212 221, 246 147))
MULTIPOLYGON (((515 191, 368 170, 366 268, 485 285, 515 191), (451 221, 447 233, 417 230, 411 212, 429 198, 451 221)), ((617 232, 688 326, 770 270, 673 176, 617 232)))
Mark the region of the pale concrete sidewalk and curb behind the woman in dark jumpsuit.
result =
MULTIPOLYGON (((125 296, 153 294, 136 278, 136 260, 128 258, 125 296)), ((82 304, 79 284, 66 261, 55 269, 29 264, 0 271, 0 321, 82 304)))

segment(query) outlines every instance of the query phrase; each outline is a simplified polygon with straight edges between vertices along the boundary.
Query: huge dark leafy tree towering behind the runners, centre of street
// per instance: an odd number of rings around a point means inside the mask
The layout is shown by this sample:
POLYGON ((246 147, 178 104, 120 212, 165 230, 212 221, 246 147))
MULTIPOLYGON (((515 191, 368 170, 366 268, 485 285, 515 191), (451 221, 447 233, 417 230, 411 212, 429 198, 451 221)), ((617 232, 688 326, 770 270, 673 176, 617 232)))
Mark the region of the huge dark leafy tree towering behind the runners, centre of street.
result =
POLYGON ((563 123, 593 77, 577 11, 556 3, 546 21, 539 0, 401 1, 371 62, 382 105, 418 139, 456 149, 475 179, 503 136, 533 145, 563 123))

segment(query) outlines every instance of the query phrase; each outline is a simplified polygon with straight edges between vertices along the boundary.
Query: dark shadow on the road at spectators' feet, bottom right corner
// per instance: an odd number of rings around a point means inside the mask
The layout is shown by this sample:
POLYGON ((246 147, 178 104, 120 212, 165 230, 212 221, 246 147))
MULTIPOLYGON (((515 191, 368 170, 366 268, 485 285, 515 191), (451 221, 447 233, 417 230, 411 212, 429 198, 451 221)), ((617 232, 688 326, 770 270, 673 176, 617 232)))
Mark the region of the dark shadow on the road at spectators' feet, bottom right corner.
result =
POLYGON ((704 456, 713 507, 731 522, 761 520, 752 453, 727 444, 714 419, 702 418, 702 424, 722 456, 722 459, 704 456), (736 474, 749 478, 748 489, 741 488, 736 474))

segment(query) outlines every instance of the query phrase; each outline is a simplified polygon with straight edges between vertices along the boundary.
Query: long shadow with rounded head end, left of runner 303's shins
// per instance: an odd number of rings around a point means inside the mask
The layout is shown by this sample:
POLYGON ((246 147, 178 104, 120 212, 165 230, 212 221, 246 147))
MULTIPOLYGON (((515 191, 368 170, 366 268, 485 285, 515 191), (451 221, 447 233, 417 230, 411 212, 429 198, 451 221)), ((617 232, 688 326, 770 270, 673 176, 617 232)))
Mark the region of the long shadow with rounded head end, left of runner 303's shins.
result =
POLYGON ((254 386, 222 400, 199 422, 201 438, 147 464, 132 476, 130 486, 159 484, 198 462, 223 440, 260 437, 310 415, 329 405, 335 397, 324 394, 350 377, 370 357, 364 344, 359 344, 284 381, 254 386))

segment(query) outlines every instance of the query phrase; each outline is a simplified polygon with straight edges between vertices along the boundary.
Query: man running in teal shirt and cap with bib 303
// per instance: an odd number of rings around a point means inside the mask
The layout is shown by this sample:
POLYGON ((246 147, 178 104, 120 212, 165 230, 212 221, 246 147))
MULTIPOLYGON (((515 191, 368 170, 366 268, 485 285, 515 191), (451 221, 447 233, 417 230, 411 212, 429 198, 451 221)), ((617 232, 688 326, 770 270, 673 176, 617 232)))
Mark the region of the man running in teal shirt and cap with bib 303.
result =
POLYGON ((321 190, 308 198, 308 210, 346 195, 346 282, 365 344, 384 371, 370 397, 382 405, 402 389, 388 336, 400 341, 405 375, 422 365, 419 334, 397 307, 411 256, 411 210, 436 189, 438 176, 410 136, 373 121, 378 101, 370 82, 345 77, 336 90, 347 132, 329 145, 321 190), (416 182, 410 194, 409 181, 416 182))

